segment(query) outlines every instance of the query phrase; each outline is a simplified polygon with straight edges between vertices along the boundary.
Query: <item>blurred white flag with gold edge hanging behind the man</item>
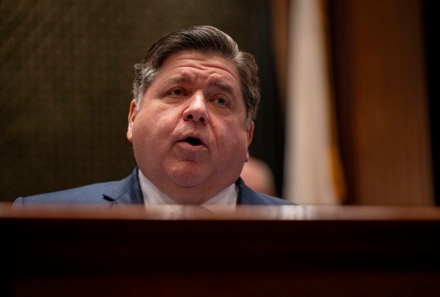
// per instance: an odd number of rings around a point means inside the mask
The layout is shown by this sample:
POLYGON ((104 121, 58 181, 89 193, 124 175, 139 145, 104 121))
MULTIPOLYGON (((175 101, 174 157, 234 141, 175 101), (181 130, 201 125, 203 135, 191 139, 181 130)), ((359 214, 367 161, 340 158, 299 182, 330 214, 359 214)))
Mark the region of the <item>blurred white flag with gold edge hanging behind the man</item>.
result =
POLYGON ((302 205, 341 204, 345 195, 323 12, 321 0, 290 1, 282 196, 302 205))

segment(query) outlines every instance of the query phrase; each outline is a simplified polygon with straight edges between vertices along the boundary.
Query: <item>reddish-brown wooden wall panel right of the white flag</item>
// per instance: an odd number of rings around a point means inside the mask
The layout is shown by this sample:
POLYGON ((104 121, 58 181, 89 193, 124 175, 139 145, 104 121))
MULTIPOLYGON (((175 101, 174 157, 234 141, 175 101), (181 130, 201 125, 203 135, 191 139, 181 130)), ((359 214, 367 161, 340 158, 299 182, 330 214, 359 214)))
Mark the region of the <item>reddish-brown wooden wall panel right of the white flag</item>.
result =
POLYGON ((331 3, 349 202, 432 205, 421 1, 331 3))

